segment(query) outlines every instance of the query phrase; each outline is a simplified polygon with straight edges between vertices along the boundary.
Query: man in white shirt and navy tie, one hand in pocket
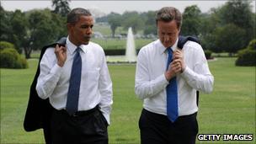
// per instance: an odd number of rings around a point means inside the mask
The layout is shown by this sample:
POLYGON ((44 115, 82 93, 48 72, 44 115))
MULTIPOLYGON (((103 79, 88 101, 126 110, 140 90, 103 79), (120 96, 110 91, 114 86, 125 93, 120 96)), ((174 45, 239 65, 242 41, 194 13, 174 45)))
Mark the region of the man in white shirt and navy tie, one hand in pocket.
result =
POLYGON ((92 28, 88 10, 72 9, 66 46, 48 48, 40 61, 36 90, 54 108, 52 143, 108 143, 112 82, 103 48, 89 41, 92 28))

